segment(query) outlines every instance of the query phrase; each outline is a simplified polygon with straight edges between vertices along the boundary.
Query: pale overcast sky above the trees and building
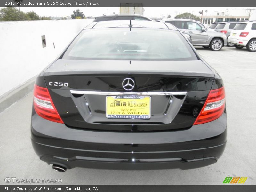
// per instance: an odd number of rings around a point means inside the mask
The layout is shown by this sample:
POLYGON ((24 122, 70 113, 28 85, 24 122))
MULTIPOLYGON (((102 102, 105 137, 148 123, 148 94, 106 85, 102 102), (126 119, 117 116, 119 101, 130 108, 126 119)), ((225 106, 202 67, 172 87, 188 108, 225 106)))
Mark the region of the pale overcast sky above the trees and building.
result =
MULTIPOLYGON (((103 14, 119 13, 119 7, 20 7, 20 11, 35 11, 39 16, 56 16, 64 17, 73 14, 73 10, 80 9, 85 16, 101 16, 103 14)), ((256 7, 144 7, 144 16, 161 17, 161 15, 170 14, 172 18, 177 14, 190 12, 194 15, 201 16, 198 11, 207 10, 207 15, 217 15, 217 12, 225 12, 225 15, 246 16, 246 10, 239 9, 256 9, 256 7)), ((253 10, 250 20, 256 20, 256 10, 253 10)), ((205 12, 204 12, 205 15, 205 12)))

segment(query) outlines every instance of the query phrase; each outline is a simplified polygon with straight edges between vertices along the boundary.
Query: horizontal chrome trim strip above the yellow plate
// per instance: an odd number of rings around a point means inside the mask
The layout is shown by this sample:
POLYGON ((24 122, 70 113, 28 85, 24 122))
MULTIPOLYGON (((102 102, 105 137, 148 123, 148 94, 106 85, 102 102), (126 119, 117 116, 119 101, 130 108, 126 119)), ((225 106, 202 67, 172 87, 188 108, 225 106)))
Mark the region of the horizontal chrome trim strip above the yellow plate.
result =
POLYGON ((108 91, 78 91, 70 90, 72 94, 86 94, 86 95, 186 95, 186 91, 173 92, 108 92, 108 91))

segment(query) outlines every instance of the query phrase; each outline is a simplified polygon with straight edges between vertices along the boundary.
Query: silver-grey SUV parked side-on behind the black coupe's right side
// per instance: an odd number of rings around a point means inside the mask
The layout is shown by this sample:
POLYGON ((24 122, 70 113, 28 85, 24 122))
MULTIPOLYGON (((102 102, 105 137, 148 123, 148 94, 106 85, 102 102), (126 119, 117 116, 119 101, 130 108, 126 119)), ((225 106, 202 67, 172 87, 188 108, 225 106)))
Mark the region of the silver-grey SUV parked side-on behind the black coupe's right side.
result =
POLYGON ((179 20, 163 20, 165 23, 171 23, 181 31, 185 31, 191 35, 192 45, 210 47, 212 51, 220 51, 224 45, 227 45, 227 37, 224 34, 208 31, 203 28, 197 21, 186 19, 179 20))

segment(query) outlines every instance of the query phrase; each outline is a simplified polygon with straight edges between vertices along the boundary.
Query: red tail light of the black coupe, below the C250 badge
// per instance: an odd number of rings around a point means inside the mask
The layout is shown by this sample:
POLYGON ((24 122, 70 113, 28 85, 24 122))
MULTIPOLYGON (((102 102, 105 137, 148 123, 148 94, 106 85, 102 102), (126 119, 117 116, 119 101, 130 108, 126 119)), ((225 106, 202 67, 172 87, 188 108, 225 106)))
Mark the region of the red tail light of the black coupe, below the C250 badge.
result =
POLYGON ((34 108, 36 113, 50 121, 63 123, 57 112, 47 88, 34 87, 34 108))

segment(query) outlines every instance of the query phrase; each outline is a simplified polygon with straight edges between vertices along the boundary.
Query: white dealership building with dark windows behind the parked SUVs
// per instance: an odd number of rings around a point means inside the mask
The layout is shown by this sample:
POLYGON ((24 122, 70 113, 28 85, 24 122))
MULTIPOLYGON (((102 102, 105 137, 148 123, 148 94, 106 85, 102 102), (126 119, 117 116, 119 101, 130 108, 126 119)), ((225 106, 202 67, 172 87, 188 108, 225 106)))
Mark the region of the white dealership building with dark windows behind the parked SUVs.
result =
POLYGON ((224 16, 224 15, 204 15, 203 22, 205 25, 210 25, 213 22, 223 22, 223 21, 244 21, 248 20, 248 16, 224 16))

